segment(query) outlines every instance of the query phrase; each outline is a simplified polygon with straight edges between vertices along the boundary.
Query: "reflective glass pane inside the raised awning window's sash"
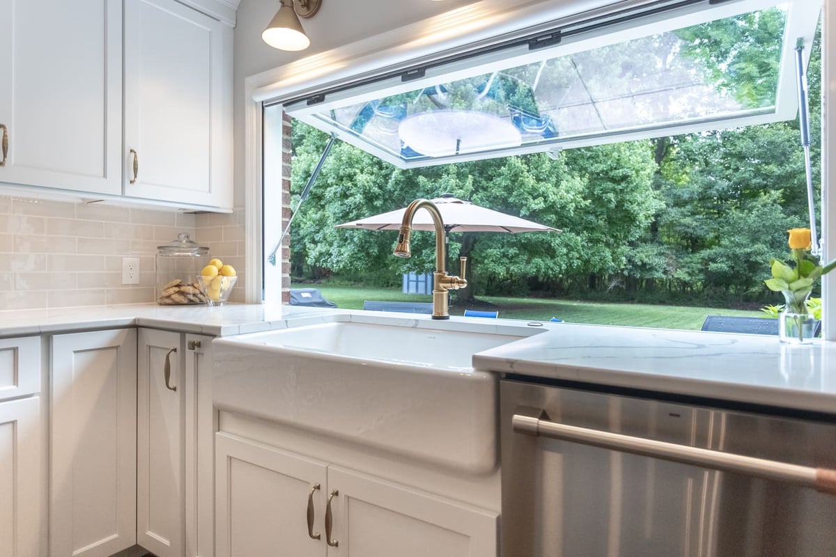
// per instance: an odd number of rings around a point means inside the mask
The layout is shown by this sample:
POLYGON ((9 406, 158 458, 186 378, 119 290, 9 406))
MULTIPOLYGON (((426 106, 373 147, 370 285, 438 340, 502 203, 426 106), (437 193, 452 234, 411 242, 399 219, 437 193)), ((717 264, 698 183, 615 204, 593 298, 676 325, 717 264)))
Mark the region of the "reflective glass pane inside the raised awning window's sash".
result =
POLYGON ((776 104, 786 19, 785 7, 744 13, 381 96, 308 122, 409 162, 764 114, 776 104))

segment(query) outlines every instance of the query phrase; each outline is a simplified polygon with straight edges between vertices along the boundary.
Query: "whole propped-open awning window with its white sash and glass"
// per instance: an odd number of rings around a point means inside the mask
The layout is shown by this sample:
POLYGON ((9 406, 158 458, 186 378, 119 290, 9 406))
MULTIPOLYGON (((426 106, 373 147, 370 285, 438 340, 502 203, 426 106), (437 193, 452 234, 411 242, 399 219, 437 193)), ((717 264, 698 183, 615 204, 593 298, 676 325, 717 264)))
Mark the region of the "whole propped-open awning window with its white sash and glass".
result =
POLYGON ((792 119, 819 8, 645 6, 285 109, 400 168, 792 119))

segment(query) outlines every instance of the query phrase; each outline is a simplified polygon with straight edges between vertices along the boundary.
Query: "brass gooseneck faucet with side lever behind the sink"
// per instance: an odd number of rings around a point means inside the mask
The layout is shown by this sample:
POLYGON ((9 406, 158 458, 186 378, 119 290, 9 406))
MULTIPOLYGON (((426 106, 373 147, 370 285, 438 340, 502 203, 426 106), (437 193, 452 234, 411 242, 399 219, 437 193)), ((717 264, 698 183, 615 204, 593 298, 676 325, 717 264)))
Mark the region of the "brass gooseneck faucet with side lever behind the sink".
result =
MULTIPOLYGON (((432 318, 450 319, 448 313, 447 291, 459 290, 467 286, 467 281, 458 276, 447 275, 446 271, 446 248, 444 246, 444 220, 436 204, 431 200, 415 200, 404 212, 404 220, 400 223, 400 234, 398 243, 393 253, 398 257, 410 257, 410 235, 412 235, 412 219, 415 212, 423 207, 429 211, 432 223, 436 229, 436 271, 432 274, 432 318)), ((467 258, 461 257, 461 275, 465 274, 467 258)))

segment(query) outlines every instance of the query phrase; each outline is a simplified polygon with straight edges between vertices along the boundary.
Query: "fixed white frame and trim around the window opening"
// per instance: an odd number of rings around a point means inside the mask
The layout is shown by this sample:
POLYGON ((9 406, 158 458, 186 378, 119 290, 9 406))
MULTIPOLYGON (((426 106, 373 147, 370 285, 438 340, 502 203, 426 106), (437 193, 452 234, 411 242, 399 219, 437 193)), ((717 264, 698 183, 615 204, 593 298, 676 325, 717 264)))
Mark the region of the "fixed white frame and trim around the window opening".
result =
MULTIPOLYGON (((504 0, 482 0, 468 4, 447 13, 404 28, 381 33, 375 37, 351 43, 341 48, 314 54, 288 63, 279 68, 257 73, 245 80, 245 198, 247 210, 247 237, 262 238, 260 242, 247 244, 247 301, 275 302, 279 292, 265 291, 262 300, 262 277, 270 274, 267 266, 268 251, 278 241, 280 226, 272 221, 267 228, 262 223, 263 206, 281 206, 281 188, 264 188, 266 176, 277 175, 276 168, 263 172, 263 162, 280 165, 278 157, 263 161, 263 112, 262 106, 274 99, 299 97, 314 94, 329 84, 350 82, 368 78, 384 68, 394 68, 415 61, 431 61, 456 49, 472 44, 490 44, 498 38, 519 29, 534 29, 559 19, 579 13, 584 17, 605 13, 614 6, 627 6, 640 0, 626 0, 608 3, 605 0, 579 0, 566 3, 564 0, 543 0, 509 8, 504 0), (277 162, 278 161, 278 162, 277 162), (277 191, 278 190, 278 191, 277 191), (269 197, 269 198, 268 198, 269 197), (263 234, 263 235, 262 235, 263 234)), ((836 193, 833 193, 833 175, 828 163, 836 160, 836 145, 827 141, 828 136, 836 137, 836 56, 828 56, 831 43, 836 43, 836 8, 834 0, 825 0, 823 15, 823 186, 822 186, 822 230, 823 253, 826 261, 836 256, 836 225, 829 225, 836 219, 836 193), (832 78, 828 78, 832 76, 832 78), (828 195, 833 194, 833 195, 828 195)), ((799 147, 800 149, 800 147, 799 147)), ((281 176, 281 168, 278 168, 281 176)), ((277 264, 278 266, 279 264, 277 264)), ((823 279, 823 337, 836 340, 836 276, 823 279)))

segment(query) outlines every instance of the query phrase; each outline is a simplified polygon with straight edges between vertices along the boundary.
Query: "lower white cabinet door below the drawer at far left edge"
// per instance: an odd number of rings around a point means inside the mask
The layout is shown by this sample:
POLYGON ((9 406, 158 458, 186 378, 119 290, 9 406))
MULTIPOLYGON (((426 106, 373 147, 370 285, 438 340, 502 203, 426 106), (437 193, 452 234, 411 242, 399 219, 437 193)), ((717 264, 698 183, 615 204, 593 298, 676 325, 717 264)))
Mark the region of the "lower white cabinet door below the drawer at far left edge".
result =
POLYGON ((38 555, 40 398, 0 403, 0 557, 38 555))

